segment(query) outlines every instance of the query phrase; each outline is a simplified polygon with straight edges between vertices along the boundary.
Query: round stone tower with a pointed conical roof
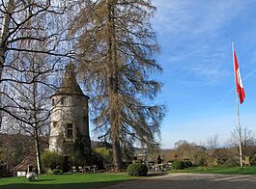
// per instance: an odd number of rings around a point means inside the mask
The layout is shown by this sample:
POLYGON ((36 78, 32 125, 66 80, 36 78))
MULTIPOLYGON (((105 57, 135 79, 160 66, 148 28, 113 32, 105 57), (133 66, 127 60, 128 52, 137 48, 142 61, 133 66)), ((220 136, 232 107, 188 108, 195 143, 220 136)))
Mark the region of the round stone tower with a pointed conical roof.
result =
POLYGON ((66 157, 77 151, 85 156, 91 152, 89 96, 82 93, 74 68, 72 64, 66 67, 61 87, 51 96, 49 150, 66 157))

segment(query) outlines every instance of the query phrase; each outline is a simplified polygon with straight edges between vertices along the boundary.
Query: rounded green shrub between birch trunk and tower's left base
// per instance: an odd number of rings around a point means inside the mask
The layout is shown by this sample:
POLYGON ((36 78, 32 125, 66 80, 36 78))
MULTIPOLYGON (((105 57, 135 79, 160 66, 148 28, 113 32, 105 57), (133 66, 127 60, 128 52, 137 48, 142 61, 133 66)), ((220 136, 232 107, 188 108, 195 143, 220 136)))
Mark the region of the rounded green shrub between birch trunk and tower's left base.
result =
POLYGON ((44 151, 41 155, 42 167, 43 171, 46 170, 54 170, 58 167, 58 169, 63 167, 64 157, 59 155, 56 152, 44 151))

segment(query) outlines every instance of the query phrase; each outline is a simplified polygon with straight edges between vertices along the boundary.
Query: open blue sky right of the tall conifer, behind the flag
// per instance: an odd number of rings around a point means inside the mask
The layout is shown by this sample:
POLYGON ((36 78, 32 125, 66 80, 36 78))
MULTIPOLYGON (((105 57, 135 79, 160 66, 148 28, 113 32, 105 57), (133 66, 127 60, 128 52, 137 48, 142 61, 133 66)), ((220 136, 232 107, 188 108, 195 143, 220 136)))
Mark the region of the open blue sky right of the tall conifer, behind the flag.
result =
POLYGON ((237 124, 231 42, 235 40, 245 100, 243 126, 256 132, 256 1, 153 0, 163 67, 157 103, 166 104, 161 147, 178 140, 220 145, 237 124))

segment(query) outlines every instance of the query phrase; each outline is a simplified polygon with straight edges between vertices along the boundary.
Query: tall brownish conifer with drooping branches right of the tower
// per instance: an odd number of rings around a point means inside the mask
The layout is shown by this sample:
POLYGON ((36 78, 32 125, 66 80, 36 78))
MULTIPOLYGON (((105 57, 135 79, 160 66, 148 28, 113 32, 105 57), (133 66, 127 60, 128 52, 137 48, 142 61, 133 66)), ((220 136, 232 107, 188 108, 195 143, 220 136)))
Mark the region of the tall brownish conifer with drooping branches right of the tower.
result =
POLYGON ((79 71, 93 94, 94 123, 109 137, 114 170, 121 170, 121 147, 140 141, 156 146, 164 107, 152 104, 160 84, 150 74, 161 70, 150 18, 156 8, 150 0, 80 2, 71 22, 77 38, 79 71))

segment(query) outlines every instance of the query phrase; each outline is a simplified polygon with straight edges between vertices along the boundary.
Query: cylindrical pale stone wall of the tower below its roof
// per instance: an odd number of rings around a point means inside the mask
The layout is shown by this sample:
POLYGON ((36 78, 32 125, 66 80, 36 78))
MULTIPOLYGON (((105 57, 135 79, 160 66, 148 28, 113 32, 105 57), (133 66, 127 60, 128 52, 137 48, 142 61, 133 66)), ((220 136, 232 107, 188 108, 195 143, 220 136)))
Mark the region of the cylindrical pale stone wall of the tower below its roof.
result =
POLYGON ((49 149, 70 155, 72 151, 67 151, 67 145, 71 148, 76 140, 83 138, 83 143, 90 150, 88 98, 82 95, 54 95, 51 99, 49 149), (68 128, 69 124, 72 124, 72 129, 68 128), (69 136, 69 129, 72 136, 69 136))

